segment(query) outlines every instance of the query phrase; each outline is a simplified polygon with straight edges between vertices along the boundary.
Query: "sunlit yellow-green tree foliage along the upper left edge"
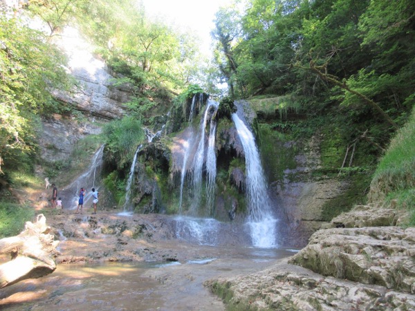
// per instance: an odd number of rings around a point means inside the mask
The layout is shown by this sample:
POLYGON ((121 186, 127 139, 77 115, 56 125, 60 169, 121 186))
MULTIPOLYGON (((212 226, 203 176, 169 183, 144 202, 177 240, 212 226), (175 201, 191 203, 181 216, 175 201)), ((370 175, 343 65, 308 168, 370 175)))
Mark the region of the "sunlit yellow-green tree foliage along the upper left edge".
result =
POLYGON ((42 32, 0 16, 0 158, 3 169, 33 165, 39 117, 62 110, 49 90, 67 89, 66 60, 42 32))

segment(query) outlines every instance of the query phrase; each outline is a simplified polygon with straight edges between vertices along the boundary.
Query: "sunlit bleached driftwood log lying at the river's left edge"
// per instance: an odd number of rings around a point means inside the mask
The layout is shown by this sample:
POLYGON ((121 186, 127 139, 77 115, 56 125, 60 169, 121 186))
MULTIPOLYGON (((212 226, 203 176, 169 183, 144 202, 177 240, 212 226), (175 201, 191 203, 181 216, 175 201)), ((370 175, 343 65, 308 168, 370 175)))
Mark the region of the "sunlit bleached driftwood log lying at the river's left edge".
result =
POLYGON ((55 237, 49 232, 46 218, 40 214, 35 223, 28 221, 18 236, 0 240, 0 254, 11 256, 10 261, 0 265, 0 288, 55 271, 59 241, 54 241, 55 237))

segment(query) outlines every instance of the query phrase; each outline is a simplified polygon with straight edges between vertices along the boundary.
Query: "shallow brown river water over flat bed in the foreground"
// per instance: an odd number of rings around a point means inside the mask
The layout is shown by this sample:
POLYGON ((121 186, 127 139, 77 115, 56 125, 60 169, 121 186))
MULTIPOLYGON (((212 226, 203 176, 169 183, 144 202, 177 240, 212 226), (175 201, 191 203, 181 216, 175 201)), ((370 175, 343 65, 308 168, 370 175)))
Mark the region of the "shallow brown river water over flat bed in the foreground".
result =
POLYGON ((295 249, 214 247, 169 241, 180 261, 59 264, 53 274, 0 291, 2 310, 225 310, 203 283, 263 270, 295 249), (182 252, 182 254, 184 254, 182 252), (187 257, 187 258, 184 258, 187 257))

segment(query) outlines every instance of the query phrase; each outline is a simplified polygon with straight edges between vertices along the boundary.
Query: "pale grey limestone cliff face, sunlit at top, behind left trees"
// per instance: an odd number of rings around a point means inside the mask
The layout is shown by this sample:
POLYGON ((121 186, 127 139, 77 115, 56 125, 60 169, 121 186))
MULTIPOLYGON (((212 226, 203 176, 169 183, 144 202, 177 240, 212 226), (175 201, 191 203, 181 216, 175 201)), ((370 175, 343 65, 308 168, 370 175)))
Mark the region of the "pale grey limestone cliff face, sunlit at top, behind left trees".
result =
POLYGON ((100 133, 95 122, 107 122, 125 115, 129 101, 128 86, 113 86, 114 77, 102 59, 93 55, 93 46, 75 28, 65 28, 57 44, 68 56, 68 71, 75 79, 71 92, 51 90, 53 96, 82 113, 82 118, 50 115, 42 122, 39 144, 42 158, 49 162, 66 160, 77 140, 100 133))

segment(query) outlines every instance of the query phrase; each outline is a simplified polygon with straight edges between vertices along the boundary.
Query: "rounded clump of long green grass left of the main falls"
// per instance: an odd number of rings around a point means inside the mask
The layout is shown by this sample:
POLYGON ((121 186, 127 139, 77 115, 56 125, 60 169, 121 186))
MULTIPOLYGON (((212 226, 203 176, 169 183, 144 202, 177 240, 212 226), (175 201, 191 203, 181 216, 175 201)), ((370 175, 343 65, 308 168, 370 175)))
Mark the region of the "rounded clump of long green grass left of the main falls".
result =
POLYGON ((118 168, 131 162, 138 144, 144 139, 141 120, 123 117, 104 126, 103 129, 108 160, 115 161, 118 168))

